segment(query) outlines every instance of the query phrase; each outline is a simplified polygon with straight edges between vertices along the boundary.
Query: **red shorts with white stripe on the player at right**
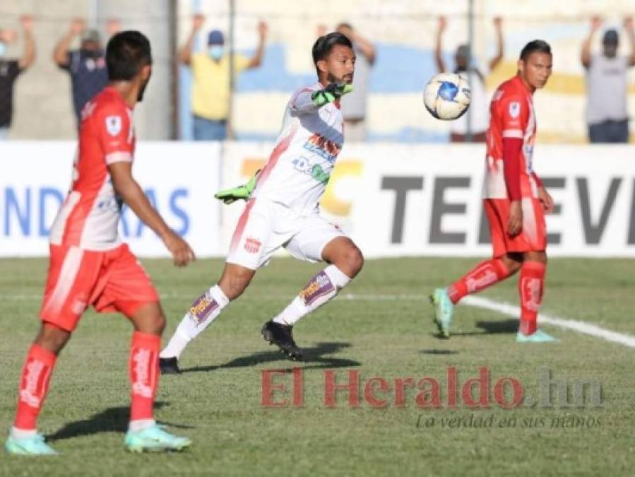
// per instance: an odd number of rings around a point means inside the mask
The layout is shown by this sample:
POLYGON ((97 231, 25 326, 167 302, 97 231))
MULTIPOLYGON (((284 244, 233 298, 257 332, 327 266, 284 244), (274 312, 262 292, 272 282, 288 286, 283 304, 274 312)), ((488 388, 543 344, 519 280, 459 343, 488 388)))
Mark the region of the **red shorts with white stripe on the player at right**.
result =
POLYGON ((485 199, 483 200, 483 206, 489 222, 489 234, 492 237, 494 257, 502 257, 507 253, 514 252, 542 252, 547 248, 545 212, 538 199, 532 197, 523 198, 521 202, 523 208, 523 230, 514 237, 507 233, 509 200, 485 199))

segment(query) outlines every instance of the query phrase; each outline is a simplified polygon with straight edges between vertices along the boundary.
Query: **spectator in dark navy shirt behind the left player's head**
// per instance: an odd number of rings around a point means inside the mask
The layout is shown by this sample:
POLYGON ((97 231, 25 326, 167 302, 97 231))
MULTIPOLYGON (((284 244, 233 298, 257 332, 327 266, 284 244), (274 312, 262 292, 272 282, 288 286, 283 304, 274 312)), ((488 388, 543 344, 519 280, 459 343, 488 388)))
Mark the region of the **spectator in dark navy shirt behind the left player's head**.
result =
MULTIPOLYGON (((109 20, 107 30, 109 35, 114 35, 119 30, 119 22, 109 20)), ((76 18, 71 23, 69 32, 57 42, 53 60, 57 66, 71 75, 73 109, 79 126, 84 105, 93 99, 93 96, 99 93, 108 82, 106 60, 99 32, 87 30, 85 21, 76 18), (81 47, 71 50, 71 42, 77 35, 81 35, 81 47)))

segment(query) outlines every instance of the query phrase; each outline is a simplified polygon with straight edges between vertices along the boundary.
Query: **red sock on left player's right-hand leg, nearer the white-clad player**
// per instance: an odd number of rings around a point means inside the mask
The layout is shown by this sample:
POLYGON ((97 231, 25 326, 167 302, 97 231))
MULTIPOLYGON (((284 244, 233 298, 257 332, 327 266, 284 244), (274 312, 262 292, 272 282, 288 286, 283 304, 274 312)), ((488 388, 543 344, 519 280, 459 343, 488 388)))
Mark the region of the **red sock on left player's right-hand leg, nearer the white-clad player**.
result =
POLYGON ((138 331, 133 333, 130 348, 130 420, 153 418, 154 399, 159 384, 160 348, 160 336, 138 331))

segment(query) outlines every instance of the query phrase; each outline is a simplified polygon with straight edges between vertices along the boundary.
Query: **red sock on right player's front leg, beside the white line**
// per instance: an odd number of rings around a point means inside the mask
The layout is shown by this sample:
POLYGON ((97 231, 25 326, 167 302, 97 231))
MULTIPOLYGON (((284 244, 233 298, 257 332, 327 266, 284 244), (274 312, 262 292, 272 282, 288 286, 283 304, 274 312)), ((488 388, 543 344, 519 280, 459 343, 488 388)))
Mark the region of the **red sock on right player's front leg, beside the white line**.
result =
POLYGON ((538 261, 524 261, 521 267, 521 279, 518 281, 518 292, 521 295, 519 329, 524 335, 533 334, 538 329, 538 310, 542 304, 546 270, 547 266, 538 261))

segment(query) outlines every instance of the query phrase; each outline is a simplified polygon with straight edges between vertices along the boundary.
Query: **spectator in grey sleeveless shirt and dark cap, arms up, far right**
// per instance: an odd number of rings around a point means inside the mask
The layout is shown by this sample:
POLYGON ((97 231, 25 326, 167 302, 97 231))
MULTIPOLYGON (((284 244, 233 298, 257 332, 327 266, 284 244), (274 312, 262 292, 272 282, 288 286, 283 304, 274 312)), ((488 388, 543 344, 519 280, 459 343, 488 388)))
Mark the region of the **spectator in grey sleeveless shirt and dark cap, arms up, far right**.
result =
POLYGON ((626 143, 629 141, 627 113, 627 70, 635 65, 635 30, 632 18, 624 20, 624 30, 631 43, 629 57, 617 55, 619 35, 606 30, 602 53, 591 54, 591 41, 602 20, 591 20, 591 33, 582 44, 582 66, 586 69, 586 124, 592 143, 626 143))

